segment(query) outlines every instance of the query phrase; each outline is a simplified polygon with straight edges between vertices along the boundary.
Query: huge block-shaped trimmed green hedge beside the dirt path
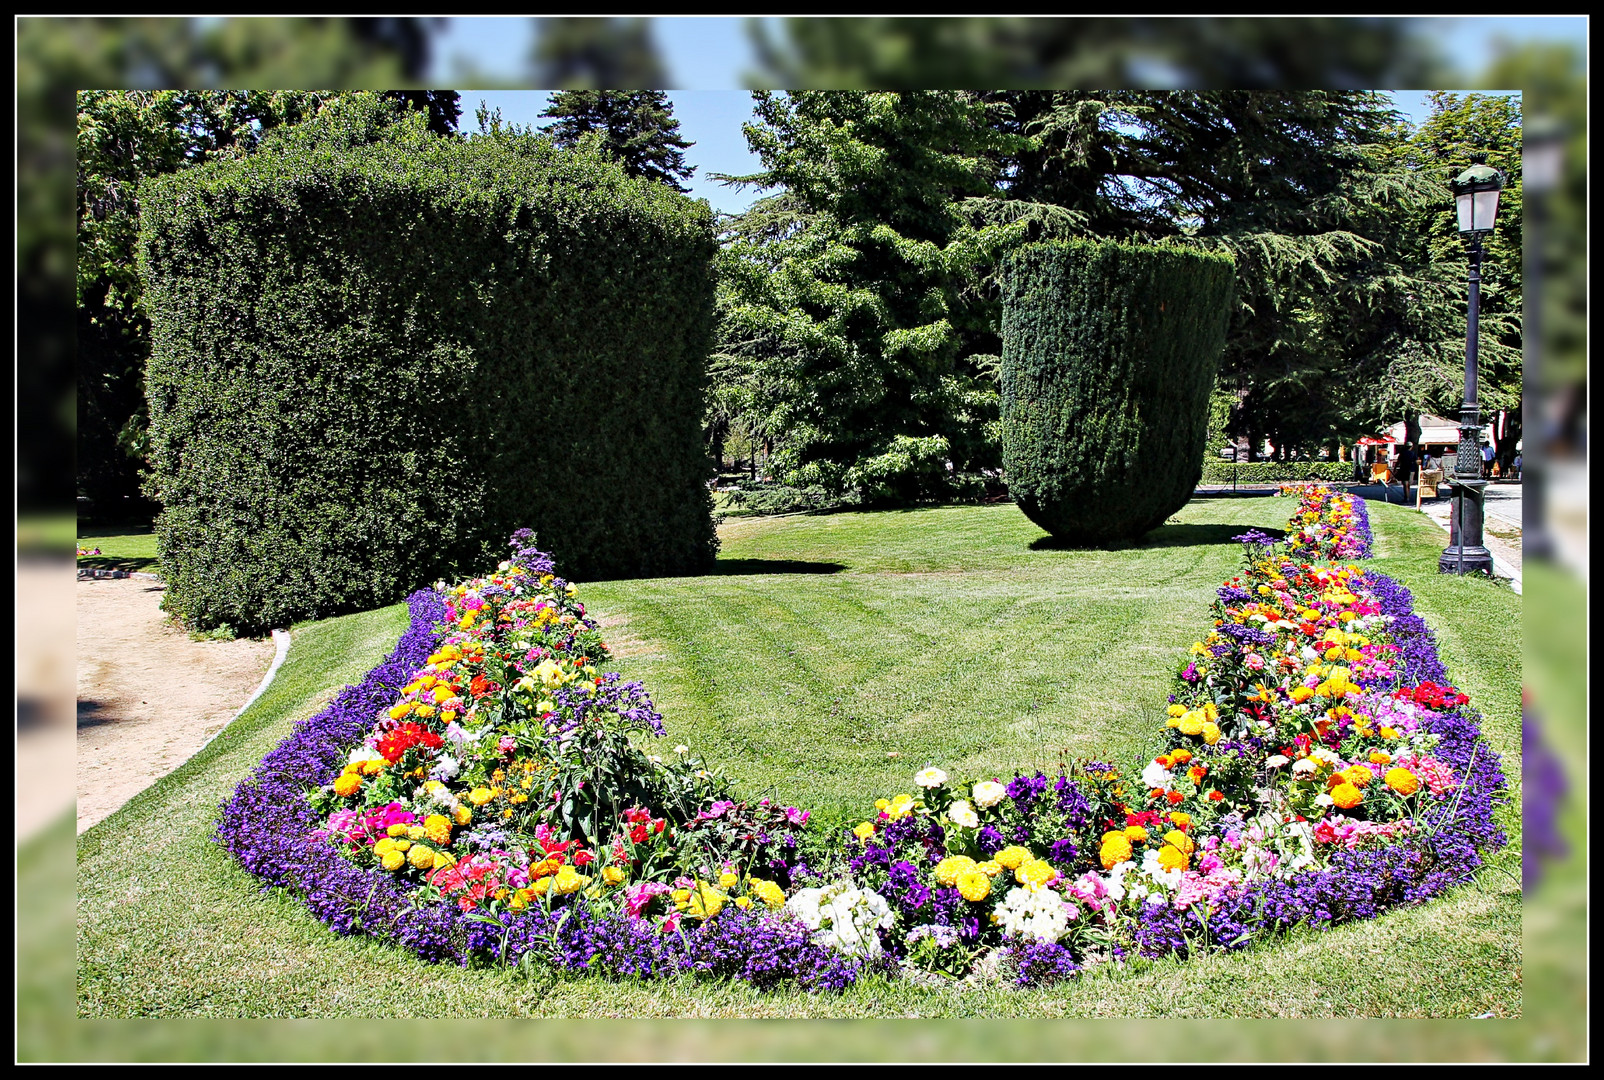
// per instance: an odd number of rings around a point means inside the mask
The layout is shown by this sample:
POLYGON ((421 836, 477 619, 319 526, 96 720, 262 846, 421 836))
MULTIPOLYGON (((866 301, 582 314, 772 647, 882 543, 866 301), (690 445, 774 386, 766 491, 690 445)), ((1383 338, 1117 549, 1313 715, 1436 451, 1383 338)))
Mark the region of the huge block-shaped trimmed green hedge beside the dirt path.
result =
POLYGON ((704 568, 707 205, 375 108, 141 189, 168 608, 393 603, 526 525, 576 578, 704 568))

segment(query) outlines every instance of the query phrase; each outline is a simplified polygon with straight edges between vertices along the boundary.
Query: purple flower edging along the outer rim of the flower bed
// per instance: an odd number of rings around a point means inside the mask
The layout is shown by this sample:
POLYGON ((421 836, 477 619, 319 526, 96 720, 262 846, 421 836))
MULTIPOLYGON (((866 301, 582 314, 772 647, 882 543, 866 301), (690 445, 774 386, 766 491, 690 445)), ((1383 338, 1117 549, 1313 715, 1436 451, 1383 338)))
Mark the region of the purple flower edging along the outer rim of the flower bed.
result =
MULTIPOLYGON (((1368 557, 1371 533, 1363 501, 1354 497, 1357 547, 1349 557, 1368 557)), ((1432 631, 1413 611, 1413 597, 1386 575, 1365 575, 1384 615, 1394 616, 1400 647, 1399 685, 1447 682, 1432 631)), ((263 887, 282 886, 300 894, 314 918, 338 934, 369 934, 414 952, 425 961, 467 964, 541 956, 568 971, 605 971, 613 976, 662 976, 675 971, 738 977, 757 987, 796 982, 804 989, 842 989, 868 966, 815 945, 805 926, 754 912, 727 908, 717 920, 661 934, 648 923, 602 920, 584 907, 549 912, 531 907, 489 924, 462 910, 436 903, 414 905, 412 889, 395 875, 348 862, 332 844, 308 842, 319 830, 306 791, 340 773, 345 753, 359 741, 372 717, 395 700, 438 644, 435 626, 444 616, 441 597, 428 589, 407 600, 411 626, 395 652, 367 677, 346 687, 316 716, 295 725, 221 807, 217 839, 263 887)), ((1235 950, 1254 939, 1309 924, 1325 929, 1375 918, 1381 912, 1418 903, 1468 881, 1482 865, 1482 851, 1500 847, 1505 833, 1493 822, 1493 806, 1506 785, 1498 756, 1480 740, 1479 714, 1452 706, 1429 722, 1440 737, 1434 751, 1461 778, 1458 798, 1428 828, 1371 851, 1339 852, 1327 870, 1285 879, 1266 879, 1229 894, 1211 915, 1197 907, 1144 907, 1136 921, 1142 953, 1181 953, 1200 947, 1235 950)), ((1051 950, 1051 947, 1049 947, 1051 950)), ((1065 976, 1067 956, 1049 956, 1033 945, 1015 948, 1020 982, 1065 976), (1036 953, 1041 952, 1041 956, 1036 953)))

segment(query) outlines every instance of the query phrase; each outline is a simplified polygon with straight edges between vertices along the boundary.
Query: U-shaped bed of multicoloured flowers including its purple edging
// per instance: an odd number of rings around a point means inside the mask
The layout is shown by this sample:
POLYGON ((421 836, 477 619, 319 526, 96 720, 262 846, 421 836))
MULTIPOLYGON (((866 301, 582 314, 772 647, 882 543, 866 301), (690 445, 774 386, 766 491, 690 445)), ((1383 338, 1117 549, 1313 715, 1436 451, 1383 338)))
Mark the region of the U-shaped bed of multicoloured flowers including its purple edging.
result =
MULTIPOLYGON (((1362 501, 1302 493, 1291 526, 1368 552, 1362 501)), ((395 653, 295 727, 218 838, 337 932, 425 960, 804 989, 1041 984, 1468 879, 1505 839, 1503 775, 1408 591, 1240 539, 1150 759, 930 765, 832 836, 653 753, 650 698, 600 671, 595 623, 521 533, 494 575, 409 600, 395 653)))

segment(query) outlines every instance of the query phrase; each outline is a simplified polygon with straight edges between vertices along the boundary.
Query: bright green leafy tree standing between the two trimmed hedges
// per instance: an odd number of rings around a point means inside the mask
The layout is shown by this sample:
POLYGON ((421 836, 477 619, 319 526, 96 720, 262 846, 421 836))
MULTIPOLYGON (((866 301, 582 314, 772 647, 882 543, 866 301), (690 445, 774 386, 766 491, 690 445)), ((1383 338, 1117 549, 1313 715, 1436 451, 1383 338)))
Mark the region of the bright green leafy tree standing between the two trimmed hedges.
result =
POLYGON ((977 289, 1028 226, 975 204, 998 201, 1006 140, 966 93, 755 103, 746 135, 765 172, 727 180, 781 191, 728 233, 720 400, 773 438, 786 485, 945 497, 954 473, 996 467, 996 392, 980 364, 994 326, 977 289))

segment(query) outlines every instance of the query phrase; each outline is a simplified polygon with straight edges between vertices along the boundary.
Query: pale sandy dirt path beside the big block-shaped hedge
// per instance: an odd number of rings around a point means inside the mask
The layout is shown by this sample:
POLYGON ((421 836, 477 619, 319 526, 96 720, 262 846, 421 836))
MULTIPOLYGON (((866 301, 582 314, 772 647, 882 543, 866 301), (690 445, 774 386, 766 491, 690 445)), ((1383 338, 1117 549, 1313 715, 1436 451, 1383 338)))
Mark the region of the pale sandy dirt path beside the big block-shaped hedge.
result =
POLYGON ((157 581, 88 579, 77 589, 82 833, 228 724, 273 663, 273 640, 189 640, 160 611, 157 581))

